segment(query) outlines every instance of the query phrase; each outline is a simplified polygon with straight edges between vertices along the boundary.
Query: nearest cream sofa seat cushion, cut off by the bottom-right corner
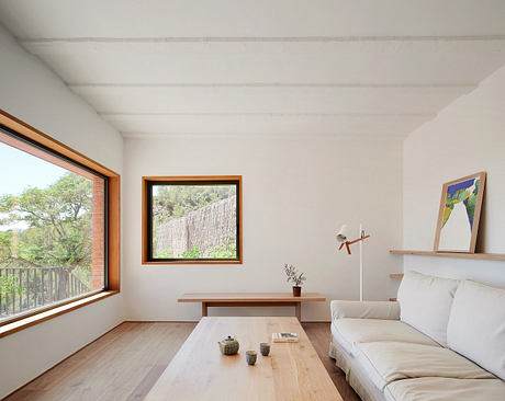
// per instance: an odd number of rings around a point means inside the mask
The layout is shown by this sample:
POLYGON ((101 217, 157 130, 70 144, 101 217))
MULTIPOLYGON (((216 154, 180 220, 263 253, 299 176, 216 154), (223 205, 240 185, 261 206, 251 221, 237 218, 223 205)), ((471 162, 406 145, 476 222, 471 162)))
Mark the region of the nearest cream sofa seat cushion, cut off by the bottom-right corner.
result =
POLYGON ((423 377, 393 381, 384 394, 389 401, 503 401, 505 382, 500 379, 423 377))

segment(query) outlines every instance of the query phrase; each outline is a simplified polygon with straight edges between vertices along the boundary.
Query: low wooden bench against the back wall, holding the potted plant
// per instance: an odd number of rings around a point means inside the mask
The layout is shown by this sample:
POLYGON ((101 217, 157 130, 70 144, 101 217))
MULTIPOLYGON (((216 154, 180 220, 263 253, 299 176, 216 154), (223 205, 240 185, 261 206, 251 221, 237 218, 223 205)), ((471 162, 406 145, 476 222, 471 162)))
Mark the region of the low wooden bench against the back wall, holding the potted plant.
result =
POLYGON ((318 293, 302 293, 293 297, 288 293, 195 293, 184 294, 179 302, 202 302, 202 317, 209 316, 209 307, 294 307, 302 321, 302 302, 324 302, 318 293))

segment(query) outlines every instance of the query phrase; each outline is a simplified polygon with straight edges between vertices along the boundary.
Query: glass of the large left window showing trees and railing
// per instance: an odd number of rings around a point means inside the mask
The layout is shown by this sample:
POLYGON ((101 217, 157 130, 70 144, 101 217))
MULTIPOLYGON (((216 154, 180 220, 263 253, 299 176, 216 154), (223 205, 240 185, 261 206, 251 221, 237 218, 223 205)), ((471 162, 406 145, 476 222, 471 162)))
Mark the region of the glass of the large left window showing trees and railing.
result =
POLYGON ((0 322, 105 287, 105 187, 0 131, 0 322))

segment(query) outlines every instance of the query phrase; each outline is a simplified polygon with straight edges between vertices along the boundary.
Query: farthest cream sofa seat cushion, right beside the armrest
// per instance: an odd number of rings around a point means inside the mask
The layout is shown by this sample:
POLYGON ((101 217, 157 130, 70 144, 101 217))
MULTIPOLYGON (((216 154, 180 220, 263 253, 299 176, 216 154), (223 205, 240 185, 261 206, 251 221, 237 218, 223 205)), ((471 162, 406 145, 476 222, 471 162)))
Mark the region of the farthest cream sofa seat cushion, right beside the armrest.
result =
POLYGON ((337 319, 332 323, 332 332, 338 343, 351 355, 359 343, 395 341, 439 346, 427 335, 400 320, 382 319, 337 319))

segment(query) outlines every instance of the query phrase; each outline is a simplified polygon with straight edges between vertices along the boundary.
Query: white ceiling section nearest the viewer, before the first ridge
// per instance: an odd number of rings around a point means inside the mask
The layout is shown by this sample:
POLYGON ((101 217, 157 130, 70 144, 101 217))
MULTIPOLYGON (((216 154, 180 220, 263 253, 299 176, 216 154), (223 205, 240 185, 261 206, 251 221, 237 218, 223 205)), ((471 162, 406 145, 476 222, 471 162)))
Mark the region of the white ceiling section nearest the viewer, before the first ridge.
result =
POLYGON ((503 0, 0 1, 20 38, 503 35, 503 0))

